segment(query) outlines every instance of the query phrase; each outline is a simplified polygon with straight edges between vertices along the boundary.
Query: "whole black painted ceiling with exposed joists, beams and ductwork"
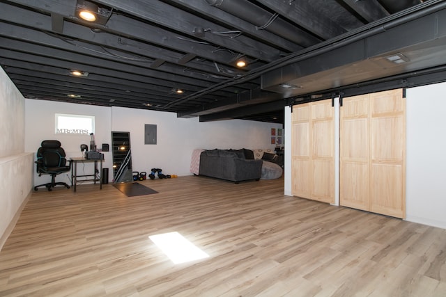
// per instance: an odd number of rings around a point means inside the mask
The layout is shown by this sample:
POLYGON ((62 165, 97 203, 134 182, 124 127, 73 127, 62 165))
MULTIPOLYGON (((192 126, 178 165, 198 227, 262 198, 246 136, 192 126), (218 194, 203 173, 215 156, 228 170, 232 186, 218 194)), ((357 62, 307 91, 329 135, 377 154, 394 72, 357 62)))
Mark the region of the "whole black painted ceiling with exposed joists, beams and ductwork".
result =
POLYGON ((295 102, 444 81, 445 9, 438 0, 0 1, 0 65, 27 98, 282 123, 295 102), (76 16, 91 3, 102 24, 76 16))

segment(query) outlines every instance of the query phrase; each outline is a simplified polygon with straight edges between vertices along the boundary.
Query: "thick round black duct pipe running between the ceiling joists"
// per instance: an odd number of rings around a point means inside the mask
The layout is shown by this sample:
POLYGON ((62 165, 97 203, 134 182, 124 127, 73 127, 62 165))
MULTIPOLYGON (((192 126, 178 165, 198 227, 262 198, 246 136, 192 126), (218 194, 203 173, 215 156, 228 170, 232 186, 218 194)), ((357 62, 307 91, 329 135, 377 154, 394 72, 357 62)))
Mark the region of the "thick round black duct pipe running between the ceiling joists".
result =
MULTIPOLYGON (((268 24, 273 16, 266 10, 263 10, 255 4, 245 0, 206 0, 206 2, 208 2, 210 6, 219 8, 226 13, 230 13, 231 15, 250 22, 256 26, 264 26, 268 24)), ((277 17, 274 21, 268 24, 265 29, 275 33, 276 35, 282 36, 287 40, 295 42, 302 47, 310 47, 321 42, 321 40, 314 37, 314 35, 291 25, 289 22, 286 22, 280 17, 277 17)))

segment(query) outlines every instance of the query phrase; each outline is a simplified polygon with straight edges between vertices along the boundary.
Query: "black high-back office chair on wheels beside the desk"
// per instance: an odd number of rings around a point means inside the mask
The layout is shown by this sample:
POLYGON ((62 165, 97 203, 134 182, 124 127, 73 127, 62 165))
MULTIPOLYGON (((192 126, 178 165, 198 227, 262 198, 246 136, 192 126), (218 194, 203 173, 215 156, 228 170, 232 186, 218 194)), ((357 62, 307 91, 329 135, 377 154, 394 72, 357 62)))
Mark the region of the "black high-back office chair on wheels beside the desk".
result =
POLYGON ((70 171, 71 169, 71 163, 67 161, 65 150, 61 147, 60 141, 42 141, 37 151, 36 164, 39 176, 51 175, 51 182, 35 186, 35 191, 38 191, 40 186, 46 186, 48 191, 52 191, 52 188, 56 185, 70 188, 65 182, 56 182, 55 180, 56 175, 70 171))

